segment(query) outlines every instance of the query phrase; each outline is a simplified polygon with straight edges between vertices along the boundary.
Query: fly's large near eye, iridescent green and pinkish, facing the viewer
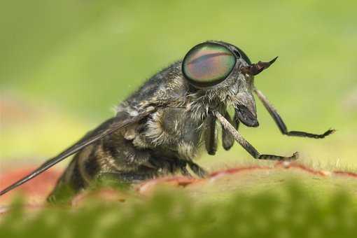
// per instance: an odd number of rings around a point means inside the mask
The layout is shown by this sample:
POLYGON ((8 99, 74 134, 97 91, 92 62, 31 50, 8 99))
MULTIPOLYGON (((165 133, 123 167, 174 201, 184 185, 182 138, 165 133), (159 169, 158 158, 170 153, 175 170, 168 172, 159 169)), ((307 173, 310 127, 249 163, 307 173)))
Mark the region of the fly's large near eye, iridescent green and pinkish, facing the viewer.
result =
POLYGON ((201 43, 186 54, 182 71, 193 85, 207 87, 225 80, 235 63, 235 55, 225 46, 218 43, 201 43))

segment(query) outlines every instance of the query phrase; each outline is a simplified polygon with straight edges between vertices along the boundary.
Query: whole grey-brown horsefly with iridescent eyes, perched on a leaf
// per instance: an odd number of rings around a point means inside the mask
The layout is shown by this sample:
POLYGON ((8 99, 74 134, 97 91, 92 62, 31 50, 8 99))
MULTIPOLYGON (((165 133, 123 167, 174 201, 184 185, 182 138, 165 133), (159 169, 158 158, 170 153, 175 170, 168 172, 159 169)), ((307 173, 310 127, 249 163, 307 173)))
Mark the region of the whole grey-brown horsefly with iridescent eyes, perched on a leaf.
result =
POLYGON ((204 177, 194 162, 200 148, 214 155, 218 127, 222 144, 229 150, 237 141, 258 160, 295 160, 291 156, 259 153, 238 132, 240 123, 258 127, 253 93, 265 106, 282 134, 320 139, 332 134, 288 131, 281 116, 262 92, 254 86, 254 76, 267 69, 269 62, 252 64, 235 45, 206 41, 195 45, 183 60, 150 78, 116 108, 116 116, 85 134, 76 144, 51 158, 34 172, 2 190, 0 195, 33 179, 64 158, 74 154, 48 199, 57 200, 63 190, 71 195, 87 188, 91 181, 111 177, 118 183, 134 183, 188 168, 204 177), (228 113, 234 111, 234 115, 228 113))

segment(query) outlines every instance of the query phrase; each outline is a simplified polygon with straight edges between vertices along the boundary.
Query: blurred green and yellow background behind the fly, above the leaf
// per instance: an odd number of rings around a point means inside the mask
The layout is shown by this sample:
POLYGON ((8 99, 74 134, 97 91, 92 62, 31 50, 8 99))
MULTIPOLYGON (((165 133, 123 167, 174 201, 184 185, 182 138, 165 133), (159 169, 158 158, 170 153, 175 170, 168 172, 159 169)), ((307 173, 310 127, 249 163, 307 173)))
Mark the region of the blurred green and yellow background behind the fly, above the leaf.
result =
MULTIPOLYGON (((228 41, 253 62, 279 60, 255 85, 290 130, 280 134, 258 104, 259 128, 241 133, 262 153, 325 168, 357 168, 357 2, 2 1, 0 158, 43 161, 106 118, 113 106, 195 44, 228 41)), ((214 170, 253 162, 242 148, 202 153, 214 170)))

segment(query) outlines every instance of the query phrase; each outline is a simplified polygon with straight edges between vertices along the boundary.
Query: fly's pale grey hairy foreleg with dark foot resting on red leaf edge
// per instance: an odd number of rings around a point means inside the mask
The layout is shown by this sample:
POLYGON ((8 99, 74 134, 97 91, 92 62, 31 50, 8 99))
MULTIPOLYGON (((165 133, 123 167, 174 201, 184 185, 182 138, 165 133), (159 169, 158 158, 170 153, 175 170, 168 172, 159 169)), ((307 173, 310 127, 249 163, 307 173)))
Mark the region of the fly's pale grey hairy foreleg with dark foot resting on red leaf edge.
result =
POLYGON ((226 120, 221 113, 218 113, 218 111, 214 111, 214 115, 216 118, 219 120, 221 125, 225 128, 225 130, 228 130, 232 134, 232 136, 235 138, 235 140, 249 153, 253 156, 253 158, 258 159, 258 160, 296 160, 298 158, 298 153, 295 152, 292 156, 290 157, 285 157, 285 156, 280 156, 280 155, 265 155, 265 154, 260 154, 246 139, 241 137, 241 134, 235 130, 235 127, 232 126, 226 120))

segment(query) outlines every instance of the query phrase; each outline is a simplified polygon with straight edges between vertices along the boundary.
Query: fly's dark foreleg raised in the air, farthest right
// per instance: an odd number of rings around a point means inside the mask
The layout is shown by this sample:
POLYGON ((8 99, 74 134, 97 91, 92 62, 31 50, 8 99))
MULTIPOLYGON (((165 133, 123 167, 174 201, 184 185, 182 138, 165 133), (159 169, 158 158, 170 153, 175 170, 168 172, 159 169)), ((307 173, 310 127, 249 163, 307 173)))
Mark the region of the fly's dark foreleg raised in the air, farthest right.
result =
POLYGON ((308 132, 296 132, 296 131, 289 132, 288 128, 283 122, 283 119, 281 118, 281 116, 279 116, 279 113, 276 111, 276 109, 274 109, 274 106, 272 106, 272 104, 270 104, 270 102, 267 100, 267 97, 265 97, 264 94, 262 94, 262 92, 260 92, 260 90, 257 90, 256 88, 254 89, 254 92, 257 94, 258 98, 265 106, 265 109, 267 109, 270 116, 272 116, 276 125, 278 125, 279 130, 281 131, 282 134, 286 134, 289 137, 309 137, 314 139, 321 139, 335 132, 335 130, 327 130, 323 134, 312 134, 308 132))

